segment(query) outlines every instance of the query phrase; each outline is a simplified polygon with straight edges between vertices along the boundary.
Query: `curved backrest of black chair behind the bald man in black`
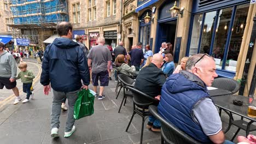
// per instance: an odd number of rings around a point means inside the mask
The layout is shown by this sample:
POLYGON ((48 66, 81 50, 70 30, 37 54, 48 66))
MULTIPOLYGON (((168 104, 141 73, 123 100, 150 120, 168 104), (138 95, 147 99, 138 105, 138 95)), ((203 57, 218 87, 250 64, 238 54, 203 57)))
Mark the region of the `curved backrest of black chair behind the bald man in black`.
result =
POLYGON ((150 97, 148 94, 139 91, 134 87, 127 86, 128 89, 131 89, 133 95, 133 103, 140 107, 141 109, 148 109, 149 105, 158 104, 159 100, 150 97))

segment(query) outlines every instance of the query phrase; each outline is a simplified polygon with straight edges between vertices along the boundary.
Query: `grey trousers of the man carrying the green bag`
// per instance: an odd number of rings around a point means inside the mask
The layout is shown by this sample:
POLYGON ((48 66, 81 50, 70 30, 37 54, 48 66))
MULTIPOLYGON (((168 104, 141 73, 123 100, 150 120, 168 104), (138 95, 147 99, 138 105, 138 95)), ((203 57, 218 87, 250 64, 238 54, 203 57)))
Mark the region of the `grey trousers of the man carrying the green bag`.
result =
POLYGON ((74 115, 74 105, 75 101, 77 100, 77 92, 57 92, 53 90, 53 104, 51 105, 51 128, 59 128, 60 127, 60 115, 61 115, 61 103, 65 98, 68 99, 68 113, 67 113, 67 121, 66 121, 66 128, 65 131, 71 131, 75 119, 74 115))

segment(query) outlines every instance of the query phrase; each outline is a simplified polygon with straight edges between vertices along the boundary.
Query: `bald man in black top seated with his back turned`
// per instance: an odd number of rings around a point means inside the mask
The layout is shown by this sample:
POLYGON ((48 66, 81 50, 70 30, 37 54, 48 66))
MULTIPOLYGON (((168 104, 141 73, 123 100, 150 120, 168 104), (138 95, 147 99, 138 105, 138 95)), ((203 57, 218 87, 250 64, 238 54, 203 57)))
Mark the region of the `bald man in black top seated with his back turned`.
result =
MULTIPOLYGON (((150 95, 153 98, 159 99, 162 85, 164 85, 166 81, 165 74, 160 69, 164 63, 163 61, 164 58, 160 53, 153 55, 152 63, 139 71, 135 81, 135 88, 150 95)), ((154 105, 157 106, 158 103, 154 105)), ((155 117, 150 116, 148 120, 148 129, 151 129, 155 132, 161 131, 161 124, 157 119, 155 119, 155 117)))

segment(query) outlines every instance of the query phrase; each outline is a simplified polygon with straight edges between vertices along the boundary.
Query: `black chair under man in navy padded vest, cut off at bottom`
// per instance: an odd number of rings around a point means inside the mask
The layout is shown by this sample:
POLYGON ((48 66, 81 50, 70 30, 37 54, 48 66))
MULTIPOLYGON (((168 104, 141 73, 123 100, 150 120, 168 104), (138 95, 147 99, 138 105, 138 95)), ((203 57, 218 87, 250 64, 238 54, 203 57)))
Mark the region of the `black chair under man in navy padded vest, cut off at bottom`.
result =
POLYGON ((182 130, 179 130, 176 126, 173 124, 167 122, 164 118, 162 118, 158 113, 158 107, 154 105, 149 106, 149 111, 152 113, 152 115, 159 119, 161 122, 161 143, 167 143, 167 144, 200 144, 201 142, 196 141, 189 135, 185 134, 182 130))

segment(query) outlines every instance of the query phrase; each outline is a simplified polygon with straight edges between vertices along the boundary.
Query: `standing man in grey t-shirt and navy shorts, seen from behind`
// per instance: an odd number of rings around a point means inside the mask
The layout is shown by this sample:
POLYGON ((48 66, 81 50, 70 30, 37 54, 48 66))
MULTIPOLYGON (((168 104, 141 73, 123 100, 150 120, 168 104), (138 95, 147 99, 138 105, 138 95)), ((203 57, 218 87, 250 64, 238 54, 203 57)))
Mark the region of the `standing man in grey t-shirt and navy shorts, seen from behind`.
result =
POLYGON ((100 79, 100 94, 98 95, 98 99, 105 98, 103 91, 104 87, 108 86, 108 71, 112 61, 111 53, 104 44, 105 39, 103 37, 98 38, 98 45, 92 47, 88 54, 88 65, 89 69, 92 70, 92 85, 96 93, 98 80, 100 79))

